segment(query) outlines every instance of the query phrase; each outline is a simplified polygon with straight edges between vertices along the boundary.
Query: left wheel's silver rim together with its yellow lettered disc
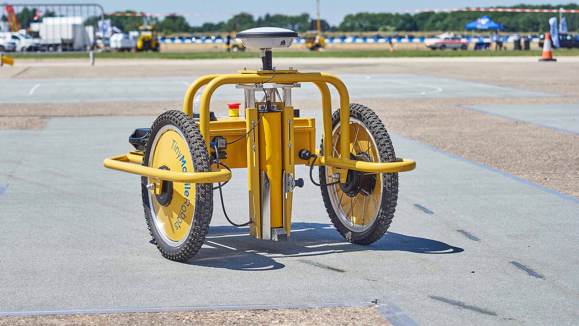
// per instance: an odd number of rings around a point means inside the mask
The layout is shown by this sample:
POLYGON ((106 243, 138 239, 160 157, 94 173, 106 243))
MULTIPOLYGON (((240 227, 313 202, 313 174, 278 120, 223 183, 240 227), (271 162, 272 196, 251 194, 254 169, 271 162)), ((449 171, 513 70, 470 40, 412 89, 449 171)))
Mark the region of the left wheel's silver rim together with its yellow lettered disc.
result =
MULTIPOLYGON (((174 125, 162 126, 152 140, 149 166, 170 171, 193 172, 189 146, 183 133, 174 125)), ((154 180, 149 178, 149 183, 154 180)), ((163 182, 162 195, 149 193, 149 209, 155 227, 163 241, 171 247, 182 245, 190 233, 195 212, 195 184, 163 182), (167 189, 169 193, 167 193, 167 189), (167 199, 166 196, 170 196, 167 199)))

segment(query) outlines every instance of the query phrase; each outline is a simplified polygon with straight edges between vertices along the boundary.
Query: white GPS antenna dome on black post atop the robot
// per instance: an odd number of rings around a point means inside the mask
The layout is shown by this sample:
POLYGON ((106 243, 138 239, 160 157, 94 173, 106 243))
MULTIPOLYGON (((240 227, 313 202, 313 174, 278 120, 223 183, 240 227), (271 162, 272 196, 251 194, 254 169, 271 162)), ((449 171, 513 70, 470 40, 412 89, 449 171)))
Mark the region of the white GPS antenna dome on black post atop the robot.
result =
POLYGON ((289 48, 296 37, 299 37, 298 32, 279 27, 251 28, 235 35, 235 38, 241 39, 245 48, 259 49, 261 70, 273 70, 272 48, 289 48))

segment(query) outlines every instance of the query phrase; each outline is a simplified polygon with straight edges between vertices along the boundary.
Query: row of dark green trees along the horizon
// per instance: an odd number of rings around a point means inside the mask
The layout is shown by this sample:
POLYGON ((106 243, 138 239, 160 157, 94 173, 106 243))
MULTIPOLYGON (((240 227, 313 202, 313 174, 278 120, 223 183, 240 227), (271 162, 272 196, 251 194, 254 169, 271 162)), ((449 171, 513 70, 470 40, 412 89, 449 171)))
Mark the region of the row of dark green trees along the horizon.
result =
MULTIPOLYGON (((576 3, 566 5, 515 5, 507 8, 527 8, 527 9, 579 9, 576 3)), ((24 8, 17 13, 17 19, 21 26, 26 28, 30 25, 35 10, 24 8)), ((124 13, 136 13, 126 10, 124 13)), ((558 16, 556 13, 515 13, 515 12, 489 12, 486 13, 497 23, 503 24, 505 31, 545 31, 549 29, 548 20, 550 17, 558 16)), ((484 12, 450 12, 434 13, 425 12, 411 15, 408 13, 354 13, 344 17, 337 26, 330 26, 322 20, 323 31, 341 32, 364 32, 364 31, 460 31, 464 29, 464 24, 476 20, 485 15, 484 12)), ((44 13, 43 17, 54 16, 52 12, 44 13)), ((566 14, 567 27, 569 31, 579 29, 579 14, 566 14)), ((316 22, 309 13, 302 13, 297 16, 288 16, 269 13, 255 18, 249 13, 240 13, 226 21, 218 23, 204 23, 200 26, 190 26, 184 17, 167 16, 163 19, 158 17, 131 17, 131 16, 107 16, 111 19, 113 26, 119 27, 123 31, 136 30, 139 25, 155 24, 156 29, 164 34, 177 32, 217 32, 217 31, 240 31, 254 27, 276 26, 288 28, 298 32, 316 29, 316 22)), ((95 25, 100 16, 90 17, 85 21, 86 25, 95 25)), ((7 20, 5 16, 2 20, 7 20)))

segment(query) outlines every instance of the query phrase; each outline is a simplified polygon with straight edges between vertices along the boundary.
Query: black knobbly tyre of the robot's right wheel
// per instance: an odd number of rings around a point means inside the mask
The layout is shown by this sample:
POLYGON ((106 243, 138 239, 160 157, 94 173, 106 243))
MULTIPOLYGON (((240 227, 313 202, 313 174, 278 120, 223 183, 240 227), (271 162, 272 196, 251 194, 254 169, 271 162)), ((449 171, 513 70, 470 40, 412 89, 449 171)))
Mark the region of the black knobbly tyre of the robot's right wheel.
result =
MULTIPOLYGON (((369 132, 376 141, 376 147, 378 148, 380 159, 383 162, 395 162, 396 155, 394 153, 394 146, 392 145, 386 127, 384 127, 384 124, 378 115, 367 106, 358 103, 350 103, 350 116, 360 119, 360 121, 368 127, 369 132)), ((332 129, 339 121, 340 109, 332 114, 332 129)), ((320 155, 323 155, 323 148, 324 138, 322 137, 320 155)), ((319 178, 321 183, 325 182, 325 169, 325 166, 320 165, 319 178)), ((376 216, 376 220, 368 230, 360 233, 353 232, 342 224, 339 216, 336 215, 336 212, 334 211, 334 207, 332 207, 328 187, 321 187, 320 189, 329 218, 332 220, 332 223, 334 223, 336 230, 338 230, 338 232, 342 234, 342 237, 344 237, 348 242, 359 245, 372 244, 380 240, 390 227, 398 201, 398 173, 382 173, 382 203, 380 205, 378 216, 376 216)))

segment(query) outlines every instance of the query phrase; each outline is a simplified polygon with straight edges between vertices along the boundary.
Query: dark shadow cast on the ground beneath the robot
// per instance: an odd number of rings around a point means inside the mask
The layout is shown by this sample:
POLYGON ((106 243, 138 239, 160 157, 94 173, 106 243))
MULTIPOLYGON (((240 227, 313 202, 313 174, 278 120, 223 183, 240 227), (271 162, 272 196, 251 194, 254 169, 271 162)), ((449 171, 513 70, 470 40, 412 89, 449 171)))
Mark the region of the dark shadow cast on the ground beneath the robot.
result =
POLYGON ((285 267, 283 258, 307 258, 358 251, 406 251, 413 253, 459 253, 463 248, 427 238, 387 232, 367 246, 347 242, 331 224, 292 223, 287 241, 258 240, 248 227, 211 226, 206 246, 186 264, 230 270, 264 271, 285 267))

